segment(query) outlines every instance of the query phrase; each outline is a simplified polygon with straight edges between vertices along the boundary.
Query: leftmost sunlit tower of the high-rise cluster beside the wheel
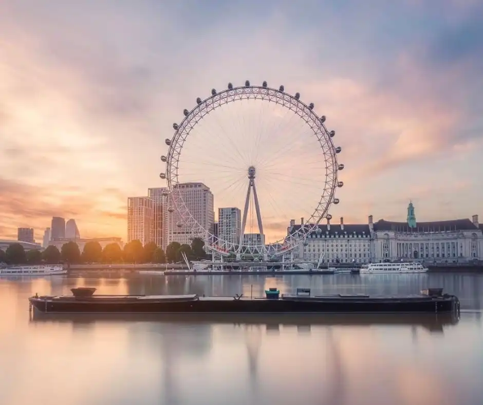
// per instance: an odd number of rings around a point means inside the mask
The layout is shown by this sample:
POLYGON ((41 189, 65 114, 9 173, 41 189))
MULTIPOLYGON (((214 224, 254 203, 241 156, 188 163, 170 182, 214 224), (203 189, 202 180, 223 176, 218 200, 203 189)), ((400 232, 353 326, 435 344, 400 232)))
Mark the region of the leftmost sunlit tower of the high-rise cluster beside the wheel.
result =
POLYGON ((127 242, 153 242, 154 201, 148 197, 127 198, 127 242))

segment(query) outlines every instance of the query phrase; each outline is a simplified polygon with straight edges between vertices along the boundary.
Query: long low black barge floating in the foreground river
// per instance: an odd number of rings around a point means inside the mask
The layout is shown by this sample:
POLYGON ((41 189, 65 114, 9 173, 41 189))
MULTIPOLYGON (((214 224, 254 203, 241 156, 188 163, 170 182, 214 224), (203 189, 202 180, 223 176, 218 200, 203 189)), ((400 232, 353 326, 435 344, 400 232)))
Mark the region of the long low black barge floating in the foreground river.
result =
POLYGON ((260 298, 178 296, 94 295, 95 288, 72 288, 72 296, 35 296, 31 308, 41 312, 144 312, 173 313, 323 313, 323 312, 426 312, 437 314, 459 309, 459 300, 443 294, 441 288, 410 296, 369 296, 365 294, 311 295, 298 288, 296 294, 282 294, 276 288, 260 298))

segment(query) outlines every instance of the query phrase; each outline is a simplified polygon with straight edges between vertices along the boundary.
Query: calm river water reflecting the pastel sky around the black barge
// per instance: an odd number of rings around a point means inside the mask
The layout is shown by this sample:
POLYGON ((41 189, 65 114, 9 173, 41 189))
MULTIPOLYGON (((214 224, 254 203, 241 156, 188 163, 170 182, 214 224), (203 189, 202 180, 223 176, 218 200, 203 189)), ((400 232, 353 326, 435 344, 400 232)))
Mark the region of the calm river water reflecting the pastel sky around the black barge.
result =
POLYGON ((0 403, 481 405, 483 275, 55 276, 0 280, 0 403), (32 317, 27 297, 444 287, 459 319, 412 316, 159 320, 32 317))

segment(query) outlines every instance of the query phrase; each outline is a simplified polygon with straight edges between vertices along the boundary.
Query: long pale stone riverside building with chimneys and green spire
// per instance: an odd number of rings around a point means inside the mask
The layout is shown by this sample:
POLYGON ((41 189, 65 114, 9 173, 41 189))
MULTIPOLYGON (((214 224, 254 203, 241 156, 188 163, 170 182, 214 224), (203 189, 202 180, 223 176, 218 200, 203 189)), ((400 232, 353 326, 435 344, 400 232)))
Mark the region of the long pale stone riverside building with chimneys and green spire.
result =
MULTIPOLYGON (((288 233, 300 228, 292 220, 288 233)), ((416 222, 412 203, 406 222, 380 219, 368 224, 319 225, 301 241, 294 257, 324 263, 374 263, 411 260, 437 263, 468 263, 483 260, 483 227, 478 215, 472 219, 416 222)))

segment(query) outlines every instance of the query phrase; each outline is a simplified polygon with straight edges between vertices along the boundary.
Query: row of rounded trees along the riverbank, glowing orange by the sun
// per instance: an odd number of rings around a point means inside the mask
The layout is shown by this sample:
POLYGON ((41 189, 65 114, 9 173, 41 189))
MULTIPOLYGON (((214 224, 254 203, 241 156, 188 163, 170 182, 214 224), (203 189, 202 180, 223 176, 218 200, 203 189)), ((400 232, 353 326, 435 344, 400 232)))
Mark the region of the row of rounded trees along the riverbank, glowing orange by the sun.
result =
POLYGON ((150 242, 144 246, 140 241, 135 240, 124 245, 124 248, 117 243, 110 243, 104 248, 97 241, 90 241, 84 245, 82 252, 76 242, 67 242, 62 245, 61 250, 55 246, 47 246, 44 251, 25 251, 20 243, 12 243, 3 251, 0 249, 0 263, 8 264, 58 264, 64 263, 175 263, 183 262, 184 253, 188 260, 206 259, 205 242, 200 238, 194 238, 191 245, 172 242, 166 247, 166 252, 150 242))

